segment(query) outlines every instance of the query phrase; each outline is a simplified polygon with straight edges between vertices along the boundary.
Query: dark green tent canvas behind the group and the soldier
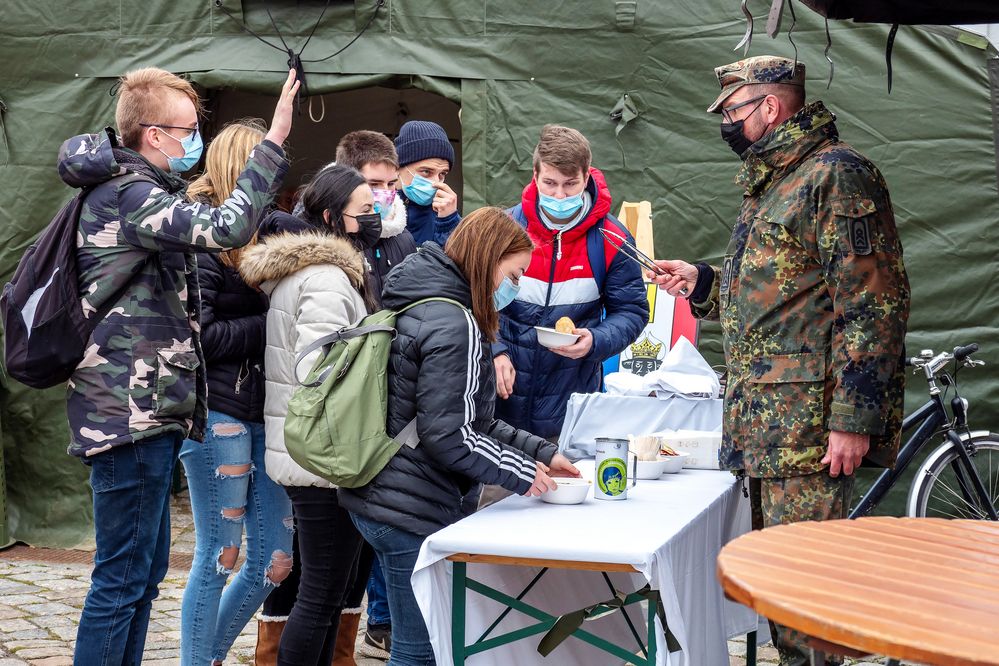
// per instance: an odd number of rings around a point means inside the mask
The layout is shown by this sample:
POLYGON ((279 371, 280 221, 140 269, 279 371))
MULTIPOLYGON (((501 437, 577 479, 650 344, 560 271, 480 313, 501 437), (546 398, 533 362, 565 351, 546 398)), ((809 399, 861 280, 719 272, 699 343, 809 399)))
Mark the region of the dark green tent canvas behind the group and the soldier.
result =
MULTIPOLYGON (((84 0, 5 6, 0 22, 0 277, 70 195, 54 160, 70 135, 113 122, 115 77, 155 65, 188 74, 206 89, 274 94, 287 54, 312 30, 325 0, 84 0)), ((718 117, 704 109, 717 91, 712 68, 738 59, 744 30, 737 3, 524 3, 495 0, 385 0, 367 32, 341 55, 369 20, 375 3, 337 0, 302 54, 309 90, 323 94, 369 85, 415 86, 461 104, 464 206, 517 200, 531 177, 541 126, 578 128, 593 145, 616 201, 652 202, 660 257, 717 260, 741 194, 738 161, 721 141, 718 117), (633 107, 619 127, 610 112, 624 96, 633 107), (637 114, 637 115, 636 115, 637 114), (633 116, 633 117, 632 117, 633 116)), ((819 16, 798 12, 794 40, 808 65, 809 94, 837 116, 843 137, 869 155, 887 178, 913 286, 909 348, 942 349, 979 342, 999 361, 999 197, 988 77, 991 50, 950 36, 903 28, 894 53, 894 87, 886 93, 885 26, 832 24, 836 75, 828 70, 819 16)), ((753 54, 794 54, 757 24, 753 54)), ((967 41, 967 40, 966 40, 967 41)), ((975 40, 970 40, 975 41, 975 40)), ((296 122, 307 122, 300 116, 296 122)), ((330 137, 329 153, 338 137, 330 137)), ((292 136, 292 140, 294 135, 292 136)), ((294 147, 294 146, 293 146, 294 147)), ((716 327, 703 327, 717 362, 716 327)), ((999 385, 990 371, 963 384, 978 428, 992 418, 999 385)), ((910 382, 910 406, 925 384, 910 382)), ((86 468, 65 454, 62 392, 6 383, 3 446, 12 534, 39 545, 90 538, 86 468)))

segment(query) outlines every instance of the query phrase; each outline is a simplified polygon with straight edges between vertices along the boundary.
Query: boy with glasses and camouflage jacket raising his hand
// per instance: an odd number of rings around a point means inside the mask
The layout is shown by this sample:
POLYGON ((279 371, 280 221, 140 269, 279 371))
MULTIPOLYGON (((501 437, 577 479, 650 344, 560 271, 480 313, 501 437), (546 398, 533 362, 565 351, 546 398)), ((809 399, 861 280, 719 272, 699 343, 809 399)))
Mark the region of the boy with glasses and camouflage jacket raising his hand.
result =
POLYGON ((69 381, 70 453, 91 465, 97 553, 78 664, 139 663, 170 548, 169 491, 185 437, 202 439, 205 360, 195 253, 246 244, 287 170, 290 72, 266 139, 218 208, 189 203, 179 172, 200 157, 190 83, 126 74, 115 132, 66 141, 59 174, 88 188, 76 239, 80 295, 97 324, 69 381), (111 306, 108 309, 108 306, 111 306))

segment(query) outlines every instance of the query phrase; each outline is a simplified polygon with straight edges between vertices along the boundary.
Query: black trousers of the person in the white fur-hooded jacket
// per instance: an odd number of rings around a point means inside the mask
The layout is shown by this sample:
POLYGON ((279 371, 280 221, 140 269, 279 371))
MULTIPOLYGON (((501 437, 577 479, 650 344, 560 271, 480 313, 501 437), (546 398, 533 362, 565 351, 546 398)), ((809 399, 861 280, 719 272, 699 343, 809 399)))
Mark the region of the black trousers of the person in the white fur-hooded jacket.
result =
POLYGON ((295 513, 302 574, 298 598, 281 635, 278 664, 329 666, 363 541, 350 514, 340 507, 336 490, 285 490, 295 513))

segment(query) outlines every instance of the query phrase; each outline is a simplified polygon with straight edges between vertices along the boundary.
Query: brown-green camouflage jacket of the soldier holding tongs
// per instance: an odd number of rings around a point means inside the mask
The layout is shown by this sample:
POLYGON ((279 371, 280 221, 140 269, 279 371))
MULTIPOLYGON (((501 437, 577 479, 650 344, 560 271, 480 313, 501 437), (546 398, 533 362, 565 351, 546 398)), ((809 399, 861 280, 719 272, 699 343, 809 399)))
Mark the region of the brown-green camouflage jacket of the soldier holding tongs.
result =
POLYGON ((755 477, 823 469, 829 431, 898 452, 909 282, 888 189, 809 104, 754 144, 745 199, 711 295, 729 378, 724 467, 755 477))

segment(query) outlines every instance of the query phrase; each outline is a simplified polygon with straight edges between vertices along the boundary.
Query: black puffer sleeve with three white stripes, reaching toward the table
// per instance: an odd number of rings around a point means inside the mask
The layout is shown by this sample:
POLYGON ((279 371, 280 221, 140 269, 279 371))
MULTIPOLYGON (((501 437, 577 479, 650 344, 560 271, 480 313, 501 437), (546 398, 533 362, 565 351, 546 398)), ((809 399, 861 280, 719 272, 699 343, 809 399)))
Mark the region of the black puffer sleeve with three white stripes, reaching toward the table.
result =
POLYGON ((475 429, 480 367, 489 350, 483 348, 471 313, 462 311, 460 320, 453 312, 449 314, 441 326, 425 321, 419 336, 416 426, 420 446, 447 469, 480 483, 526 492, 534 482, 535 461, 475 429))

